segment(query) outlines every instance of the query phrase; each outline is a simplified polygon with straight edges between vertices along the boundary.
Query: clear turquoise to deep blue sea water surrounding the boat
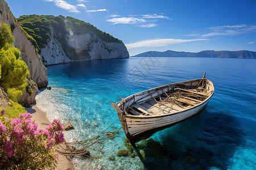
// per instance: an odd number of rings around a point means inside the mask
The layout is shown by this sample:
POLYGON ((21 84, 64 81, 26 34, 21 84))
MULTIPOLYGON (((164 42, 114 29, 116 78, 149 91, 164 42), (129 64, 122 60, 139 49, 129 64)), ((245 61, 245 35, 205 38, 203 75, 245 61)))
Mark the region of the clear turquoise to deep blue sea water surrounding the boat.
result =
MULTIPOLYGON (((50 120, 59 118, 75 126, 65 132, 67 141, 94 137, 117 120, 110 101, 201 78, 204 71, 214 84, 215 93, 199 116, 141 142, 146 162, 138 156, 116 156, 126 149, 122 134, 105 143, 105 153, 92 153, 100 159, 75 158, 76 169, 256 169, 255 59, 147 57, 73 62, 47 69, 52 90, 40 92, 37 105, 50 120)), ((119 121, 114 126, 121 127, 119 121)))

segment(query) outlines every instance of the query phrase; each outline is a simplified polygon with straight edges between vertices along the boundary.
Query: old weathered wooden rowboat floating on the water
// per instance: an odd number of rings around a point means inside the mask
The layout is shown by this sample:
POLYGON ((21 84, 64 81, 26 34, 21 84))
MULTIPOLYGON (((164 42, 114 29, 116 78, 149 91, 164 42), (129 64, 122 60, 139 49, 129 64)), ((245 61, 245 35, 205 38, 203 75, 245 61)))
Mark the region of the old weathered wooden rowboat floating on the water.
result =
POLYGON ((213 83, 204 73, 201 79, 170 83, 111 104, 127 139, 135 143, 201 113, 213 93, 213 83))

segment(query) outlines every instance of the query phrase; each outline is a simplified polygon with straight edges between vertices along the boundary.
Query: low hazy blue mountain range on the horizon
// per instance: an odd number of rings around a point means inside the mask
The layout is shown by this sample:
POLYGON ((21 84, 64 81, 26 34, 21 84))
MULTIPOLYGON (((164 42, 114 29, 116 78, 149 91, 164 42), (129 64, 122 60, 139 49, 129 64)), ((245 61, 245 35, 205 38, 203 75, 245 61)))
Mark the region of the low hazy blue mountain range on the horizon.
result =
POLYGON ((207 57, 207 58, 256 58, 256 52, 251 52, 247 50, 240 51, 214 51, 205 50, 198 53, 191 52, 175 52, 167 50, 166 52, 155 52, 149 51, 141 54, 137 54, 133 57, 207 57))

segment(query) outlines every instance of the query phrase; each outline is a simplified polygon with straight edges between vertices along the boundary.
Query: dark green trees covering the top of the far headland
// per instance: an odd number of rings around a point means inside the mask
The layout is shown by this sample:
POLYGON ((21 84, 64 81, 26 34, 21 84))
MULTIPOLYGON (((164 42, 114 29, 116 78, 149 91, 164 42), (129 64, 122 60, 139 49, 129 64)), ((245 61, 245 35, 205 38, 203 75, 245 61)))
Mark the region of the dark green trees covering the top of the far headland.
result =
MULTIPOLYGON (((85 33, 95 33, 101 40, 106 42, 122 42, 109 33, 102 32, 92 24, 82 20, 72 18, 71 16, 53 16, 53 15, 22 15, 17 19, 19 25, 33 39, 36 40, 39 50, 45 48, 47 41, 51 38, 53 29, 56 32, 53 35, 60 42, 65 42, 65 35, 82 35, 85 33)), ((64 44, 61 44, 65 46, 64 44)))

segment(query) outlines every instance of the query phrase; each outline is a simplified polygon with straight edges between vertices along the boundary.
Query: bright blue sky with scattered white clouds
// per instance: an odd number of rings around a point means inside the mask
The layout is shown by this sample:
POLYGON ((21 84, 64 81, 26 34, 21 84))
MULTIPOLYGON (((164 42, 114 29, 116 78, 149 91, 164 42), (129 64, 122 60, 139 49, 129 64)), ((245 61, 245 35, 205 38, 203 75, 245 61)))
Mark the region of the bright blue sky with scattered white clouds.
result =
POLYGON ((6 0, 20 15, 64 15, 122 40, 130 56, 148 50, 256 51, 256 1, 6 0))

